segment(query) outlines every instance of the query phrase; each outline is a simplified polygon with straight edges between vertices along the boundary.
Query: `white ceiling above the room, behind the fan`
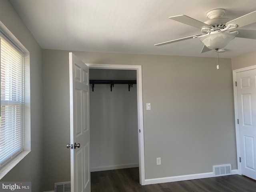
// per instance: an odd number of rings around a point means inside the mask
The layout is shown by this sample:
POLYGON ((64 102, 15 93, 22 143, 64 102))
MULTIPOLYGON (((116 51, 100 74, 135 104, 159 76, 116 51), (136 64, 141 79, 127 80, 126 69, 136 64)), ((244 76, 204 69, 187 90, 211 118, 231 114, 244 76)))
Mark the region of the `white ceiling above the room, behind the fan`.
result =
MULTIPOLYGON (((234 19, 256 10, 255 0, 10 0, 45 49, 216 57, 201 54, 199 39, 154 46, 202 34, 200 29, 168 19, 185 14, 205 22, 206 13, 222 8, 234 19)), ((256 18, 255 18, 256 21, 256 18)), ((244 29, 256 30, 256 23, 244 29)), ((256 51, 256 40, 235 38, 222 58, 256 51)))

